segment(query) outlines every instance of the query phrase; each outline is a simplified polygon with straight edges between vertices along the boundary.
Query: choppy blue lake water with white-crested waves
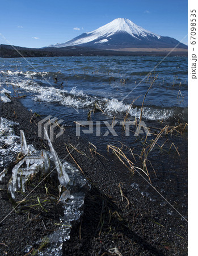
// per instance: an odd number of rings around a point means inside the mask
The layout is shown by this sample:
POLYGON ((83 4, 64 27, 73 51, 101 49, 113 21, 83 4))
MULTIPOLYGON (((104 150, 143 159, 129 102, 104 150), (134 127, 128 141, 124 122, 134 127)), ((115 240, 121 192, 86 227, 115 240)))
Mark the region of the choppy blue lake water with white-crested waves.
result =
POLYGON ((186 119, 186 57, 167 57, 149 79, 146 77, 135 89, 162 57, 27 59, 37 71, 24 59, 1 59, 0 82, 1 85, 15 86, 25 92, 28 97, 23 103, 33 111, 77 120, 79 117, 85 119, 87 112, 97 104, 110 116, 124 116, 130 103, 141 96, 129 112, 131 117, 139 117, 144 94, 151 80, 158 74, 158 79, 145 100, 144 118, 168 119, 179 115, 180 119, 186 119), (58 79, 57 83, 54 81, 55 77, 58 79), (133 91, 130 93, 131 90, 133 91), (56 108, 52 108, 52 105, 56 108))

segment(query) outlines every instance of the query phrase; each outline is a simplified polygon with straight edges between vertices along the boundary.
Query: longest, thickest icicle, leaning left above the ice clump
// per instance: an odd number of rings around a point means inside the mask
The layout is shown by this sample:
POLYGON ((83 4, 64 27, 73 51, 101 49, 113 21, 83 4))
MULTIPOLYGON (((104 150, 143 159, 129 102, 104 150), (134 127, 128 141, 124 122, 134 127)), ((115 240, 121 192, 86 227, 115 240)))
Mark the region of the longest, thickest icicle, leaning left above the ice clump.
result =
POLYGON ((54 164, 58 172, 58 180, 62 186, 66 187, 66 185, 69 183, 69 176, 66 173, 64 166, 62 166, 61 160, 58 158, 57 152, 54 150, 52 143, 50 142, 50 139, 45 127, 44 127, 44 134, 45 134, 45 138, 47 138, 50 151, 53 155, 54 164))

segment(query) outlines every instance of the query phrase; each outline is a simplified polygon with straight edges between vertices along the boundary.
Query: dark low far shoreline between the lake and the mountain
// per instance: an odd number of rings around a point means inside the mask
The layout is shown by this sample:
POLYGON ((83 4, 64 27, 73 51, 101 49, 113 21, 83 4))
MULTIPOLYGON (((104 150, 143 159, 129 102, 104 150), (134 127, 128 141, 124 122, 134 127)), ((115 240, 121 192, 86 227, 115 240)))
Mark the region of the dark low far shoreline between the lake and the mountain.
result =
POLYGON ((0 57, 66 57, 66 56, 188 56, 188 50, 184 48, 123 48, 123 49, 97 49, 77 46, 61 48, 26 48, 0 44, 0 57), (20 55, 21 54, 21 55, 20 55))

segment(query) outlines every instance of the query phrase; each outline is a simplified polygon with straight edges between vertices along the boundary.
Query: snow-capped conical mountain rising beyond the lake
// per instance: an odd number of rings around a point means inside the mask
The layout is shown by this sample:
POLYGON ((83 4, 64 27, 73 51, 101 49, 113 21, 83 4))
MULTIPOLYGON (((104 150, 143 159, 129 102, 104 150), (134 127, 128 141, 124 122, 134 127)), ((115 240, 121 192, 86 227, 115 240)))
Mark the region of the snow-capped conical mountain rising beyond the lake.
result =
MULTIPOLYGON (((129 19, 118 18, 89 33, 83 33, 65 43, 49 47, 85 46, 100 49, 171 48, 179 43, 168 36, 154 34, 137 26, 129 19)), ((178 48, 186 48, 179 44, 178 48)))

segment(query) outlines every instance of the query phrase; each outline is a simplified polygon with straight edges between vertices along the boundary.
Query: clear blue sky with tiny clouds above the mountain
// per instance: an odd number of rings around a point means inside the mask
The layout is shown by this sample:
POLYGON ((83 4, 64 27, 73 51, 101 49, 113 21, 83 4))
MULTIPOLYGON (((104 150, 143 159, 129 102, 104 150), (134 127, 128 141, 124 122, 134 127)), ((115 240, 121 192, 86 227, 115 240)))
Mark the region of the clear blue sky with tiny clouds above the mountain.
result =
MULTIPOLYGON (((187 0, 0 0, 0 33, 15 46, 64 43, 116 18, 162 36, 187 35, 187 0)), ((187 38, 183 41, 187 44, 187 38)), ((8 44, 0 35, 0 43, 8 44)))

